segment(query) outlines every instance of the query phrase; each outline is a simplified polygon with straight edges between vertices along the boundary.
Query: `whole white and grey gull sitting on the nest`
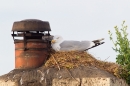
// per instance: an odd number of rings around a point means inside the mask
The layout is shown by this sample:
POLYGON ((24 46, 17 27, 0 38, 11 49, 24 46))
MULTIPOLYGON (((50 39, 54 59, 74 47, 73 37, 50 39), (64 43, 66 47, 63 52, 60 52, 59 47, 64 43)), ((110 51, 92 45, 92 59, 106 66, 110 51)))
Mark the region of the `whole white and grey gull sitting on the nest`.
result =
POLYGON ((55 51, 85 51, 97 46, 101 40, 103 39, 94 41, 63 40, 61 36, 56 35, 51 40, 51 46, 55 51))

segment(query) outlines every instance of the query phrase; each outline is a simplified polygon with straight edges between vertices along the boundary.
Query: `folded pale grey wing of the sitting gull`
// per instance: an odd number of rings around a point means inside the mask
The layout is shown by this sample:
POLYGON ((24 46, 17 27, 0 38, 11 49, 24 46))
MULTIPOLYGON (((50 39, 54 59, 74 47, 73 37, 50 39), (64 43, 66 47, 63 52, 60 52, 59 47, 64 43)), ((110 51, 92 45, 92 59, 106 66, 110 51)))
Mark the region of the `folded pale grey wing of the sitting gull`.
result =
POLYGON ((61 51, 71 51, 71 50, 78 50, 84 51, 95 44, 92 41, 63 41, 60 44, 61 51))

